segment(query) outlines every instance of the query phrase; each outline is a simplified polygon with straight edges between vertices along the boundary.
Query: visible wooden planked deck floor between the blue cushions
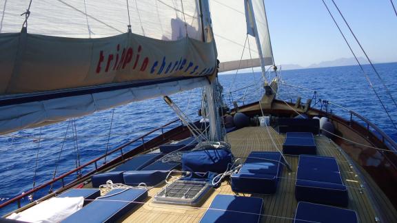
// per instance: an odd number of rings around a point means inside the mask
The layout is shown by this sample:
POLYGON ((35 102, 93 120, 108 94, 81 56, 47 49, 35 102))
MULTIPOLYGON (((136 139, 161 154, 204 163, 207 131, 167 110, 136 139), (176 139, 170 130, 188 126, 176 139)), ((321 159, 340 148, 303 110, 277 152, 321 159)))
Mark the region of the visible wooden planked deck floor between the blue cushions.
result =
MULTIPOLYGON (((279 135, 274 129, 265 127, 245 127, 227 134, 226 140, 232 145, 232 151, 236 158, 247 157, 251 151, 276 151, 274 143, 279 150, 282 149, 285 136, 279 135)), ((325 136, 315 136, 319 156, 332 156, 338 161, 343 182, 349 191, 349 206, 357 212, 360 222, 376 222, 376 211, 371 205, 371 200, 365 189, 361 189, 360 179, 352 169, 349 161, 343 155, 340 148, 325 136)), ((292 222, 298 202, 296 201, 294 189, 296 169, 298 166, 297 156, 287 156, 287 161, 292 165, 292 172, 284 168, 281 182, 277 192, 273 195, 251 195, 263 198, 263 216, 261 222, 292 222)), ((236 194, 232 191, 228 182, 223 182, 210 197, 198 207, 178 206, 171 204, 154 204, 153 196, 161 190, 164 184, 150 189, 149 198, 145 204, 141 204, 132 210, 123 222, 199 222, 208 206, 217 194, 236 194)), ((395 215, 395 213, 391 213, 395 215)))

